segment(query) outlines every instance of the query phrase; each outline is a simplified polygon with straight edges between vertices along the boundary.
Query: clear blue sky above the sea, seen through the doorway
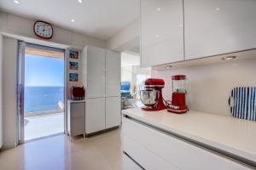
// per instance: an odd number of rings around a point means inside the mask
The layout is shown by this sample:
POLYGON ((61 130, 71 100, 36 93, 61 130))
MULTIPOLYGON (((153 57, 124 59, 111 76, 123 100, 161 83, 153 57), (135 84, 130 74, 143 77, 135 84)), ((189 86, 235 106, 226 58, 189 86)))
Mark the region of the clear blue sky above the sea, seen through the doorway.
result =
POLYGON ((64 59, 25 55, 25 86, 63 86, 64 59))

